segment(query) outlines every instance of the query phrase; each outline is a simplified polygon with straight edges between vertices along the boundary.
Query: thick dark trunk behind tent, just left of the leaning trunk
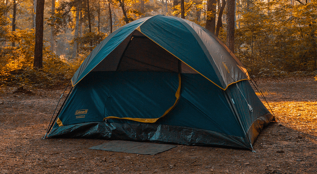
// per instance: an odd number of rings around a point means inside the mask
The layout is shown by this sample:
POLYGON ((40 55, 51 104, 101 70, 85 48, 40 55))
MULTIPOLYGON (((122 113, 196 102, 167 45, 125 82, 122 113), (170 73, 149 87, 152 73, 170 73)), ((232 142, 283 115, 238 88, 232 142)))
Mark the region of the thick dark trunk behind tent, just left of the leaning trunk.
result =
POLYGON ((209 15, 206 17, 206 29, 215 34, 216 28, 216 4, 217 0, 207 1, 207 12, 209 15))

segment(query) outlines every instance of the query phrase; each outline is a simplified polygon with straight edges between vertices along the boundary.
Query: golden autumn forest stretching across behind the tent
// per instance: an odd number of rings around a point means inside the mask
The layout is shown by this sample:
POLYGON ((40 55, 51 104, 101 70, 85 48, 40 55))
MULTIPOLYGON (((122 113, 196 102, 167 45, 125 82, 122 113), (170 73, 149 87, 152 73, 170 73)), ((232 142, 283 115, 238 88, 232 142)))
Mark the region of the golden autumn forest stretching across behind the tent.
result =
POLYGON ((0 3, 0 87, 67 84, 111 32, 158 14, 200 24, 227 45, 234 36, 231 50, 255 77, 317 75, 317 0, 45 0, 40 70, 33 64, 36 4, 0 3))

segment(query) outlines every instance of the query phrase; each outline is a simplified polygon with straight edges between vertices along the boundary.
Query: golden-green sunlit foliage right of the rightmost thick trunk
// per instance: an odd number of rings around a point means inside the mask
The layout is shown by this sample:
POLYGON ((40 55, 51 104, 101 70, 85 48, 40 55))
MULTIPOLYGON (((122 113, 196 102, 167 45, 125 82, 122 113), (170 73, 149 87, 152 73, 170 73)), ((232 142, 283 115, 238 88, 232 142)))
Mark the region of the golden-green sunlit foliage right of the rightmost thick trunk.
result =
POLYGON ((241 9, 237 55, 253 74, 316 70, 316 1, 255 1, 241 9))

